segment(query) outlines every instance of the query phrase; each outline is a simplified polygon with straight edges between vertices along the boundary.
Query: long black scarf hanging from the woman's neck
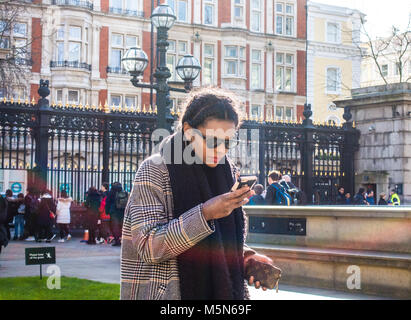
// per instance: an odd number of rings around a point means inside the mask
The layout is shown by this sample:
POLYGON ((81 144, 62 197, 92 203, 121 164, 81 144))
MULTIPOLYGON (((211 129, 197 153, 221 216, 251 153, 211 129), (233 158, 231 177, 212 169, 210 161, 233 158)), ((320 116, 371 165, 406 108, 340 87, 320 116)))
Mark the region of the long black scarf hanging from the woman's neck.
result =
MULTIPOLYGON (((175 145, 182 145, 183 150, 194 155, 191 145, 183 142, 182 132, 169 136, 163 143, 167 147, 162 149, 162 154, 170 155, 168 159, 171 160, 166 163, 175 218, 231 189, 234 179, 227 159, 216 168, 174 161, 174 151, 181 150, 174 149, 175 145)), ((225 218, 214 220, 214 227, 214 233, 177 257, 183 300, 244 299, 244 217, 241 207, 225 218)))

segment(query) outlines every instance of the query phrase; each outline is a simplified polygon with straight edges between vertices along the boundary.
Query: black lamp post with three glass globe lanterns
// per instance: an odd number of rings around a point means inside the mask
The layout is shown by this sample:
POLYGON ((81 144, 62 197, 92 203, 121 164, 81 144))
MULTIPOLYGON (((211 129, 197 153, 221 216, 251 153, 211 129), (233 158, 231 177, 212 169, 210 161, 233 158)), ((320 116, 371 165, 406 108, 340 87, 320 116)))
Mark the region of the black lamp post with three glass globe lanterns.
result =
POLYGON ((193 81, 200 73, 201 65, 196 58, 187 54, 181 58, 176 66, 178 75, 184 81, 184 89, 172 88, 167 79, 171 77, 167 68, 166 54, 168 47, 168 30, 173 26, 176 16, 170 6, 161 4, 151 14, 151 22, 157 28, 158 67, 153 76, 156 78, 154 84, 140 83, 144 69, 147 67, 147 54, 138 47, 127 50, 122 60, 123 67, 132 76, 131 83, 137 88, 148 88, 156 90, 157 96, 157 128, 171 130, 172 116, 170 114, 170 91, 189 92, 193 81))

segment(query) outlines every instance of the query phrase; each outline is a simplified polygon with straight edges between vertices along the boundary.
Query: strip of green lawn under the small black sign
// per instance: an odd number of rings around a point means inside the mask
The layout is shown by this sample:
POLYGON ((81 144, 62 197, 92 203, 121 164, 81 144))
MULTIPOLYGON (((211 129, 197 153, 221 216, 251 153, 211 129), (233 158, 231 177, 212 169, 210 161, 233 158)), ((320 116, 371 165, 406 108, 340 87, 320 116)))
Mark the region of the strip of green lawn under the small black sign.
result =
POLYGON ((0 278, 0 300, 118 300, 120 285, 61 277, 60 289, 47 288, 47 277, 0 278))

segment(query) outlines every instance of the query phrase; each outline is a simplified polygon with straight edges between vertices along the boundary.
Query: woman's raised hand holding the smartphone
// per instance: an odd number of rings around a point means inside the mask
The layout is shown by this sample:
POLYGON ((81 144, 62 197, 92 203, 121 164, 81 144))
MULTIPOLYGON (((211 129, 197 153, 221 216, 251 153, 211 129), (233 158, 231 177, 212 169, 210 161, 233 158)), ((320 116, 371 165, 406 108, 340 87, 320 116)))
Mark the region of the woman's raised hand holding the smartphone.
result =
POLYGON ((252 196, 249 186, 230 191, 211 198, 203 204, 203 216, 206 221, 228 216, 234 209, 245 205, 252 196))

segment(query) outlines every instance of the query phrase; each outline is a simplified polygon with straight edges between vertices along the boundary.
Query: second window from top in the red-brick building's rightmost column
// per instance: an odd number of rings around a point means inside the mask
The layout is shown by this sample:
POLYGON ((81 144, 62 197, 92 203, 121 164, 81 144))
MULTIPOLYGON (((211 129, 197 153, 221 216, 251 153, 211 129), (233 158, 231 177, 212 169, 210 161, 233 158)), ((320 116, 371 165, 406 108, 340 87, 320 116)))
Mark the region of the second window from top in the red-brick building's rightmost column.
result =
POLYGON ((289 53, 276 54, 276 89, 278 91, 294 91, 294 55, 289 53))

